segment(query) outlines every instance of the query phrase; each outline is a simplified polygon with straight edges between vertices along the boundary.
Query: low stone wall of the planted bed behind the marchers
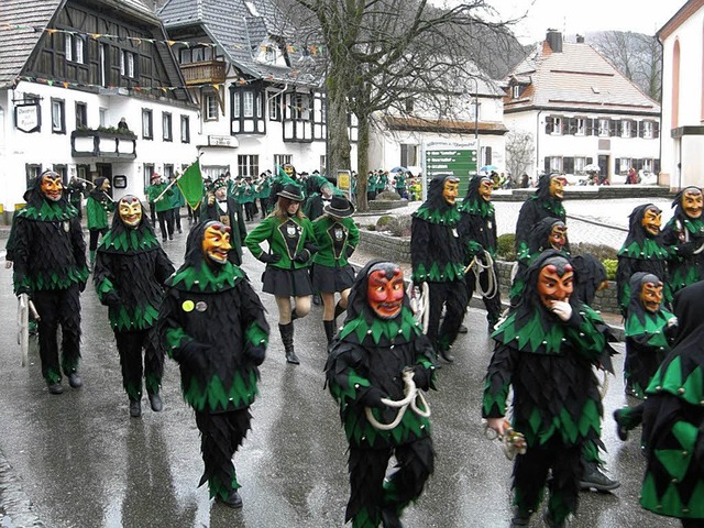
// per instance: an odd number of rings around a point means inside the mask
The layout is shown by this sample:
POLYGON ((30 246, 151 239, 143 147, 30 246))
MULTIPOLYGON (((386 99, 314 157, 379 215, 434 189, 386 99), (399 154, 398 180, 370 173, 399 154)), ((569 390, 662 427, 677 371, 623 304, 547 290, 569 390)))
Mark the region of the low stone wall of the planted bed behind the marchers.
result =
MULTIPOLYGON (((360 249, 374 255, 383 256, 398 263, 410 262, 410 238, 398 238, 375 231, 360 230, 360 249)), ((514 268, 513 262, 498 261, 498 277, 502 285, 502 299, 508 300, 510 275, 514 268)), ((592 308, 605 314, 618 314, 616 301, 616 283, 608 282, 608 288, 597 292, 592 302, 592 308)))

